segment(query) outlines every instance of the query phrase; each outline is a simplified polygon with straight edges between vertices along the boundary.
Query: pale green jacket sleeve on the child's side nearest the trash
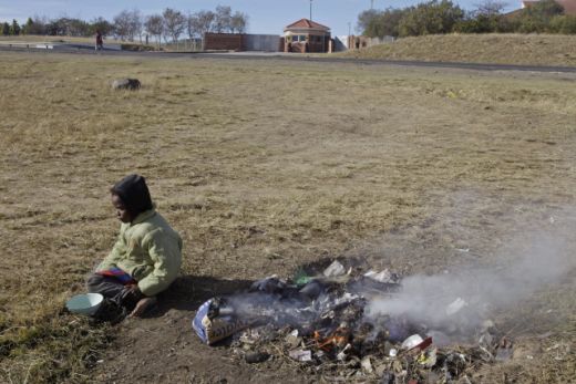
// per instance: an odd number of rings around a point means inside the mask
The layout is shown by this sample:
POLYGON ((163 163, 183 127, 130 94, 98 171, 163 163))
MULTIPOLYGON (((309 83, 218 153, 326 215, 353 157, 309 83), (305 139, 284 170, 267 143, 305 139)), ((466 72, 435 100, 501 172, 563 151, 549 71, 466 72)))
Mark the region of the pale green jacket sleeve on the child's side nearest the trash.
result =
POLYGON ((138 288, 147 297, 164 291, 178 276, 182 264, 182 239, 164 230, 148 233, 143 241, 154 270, 138 281, 138 288))

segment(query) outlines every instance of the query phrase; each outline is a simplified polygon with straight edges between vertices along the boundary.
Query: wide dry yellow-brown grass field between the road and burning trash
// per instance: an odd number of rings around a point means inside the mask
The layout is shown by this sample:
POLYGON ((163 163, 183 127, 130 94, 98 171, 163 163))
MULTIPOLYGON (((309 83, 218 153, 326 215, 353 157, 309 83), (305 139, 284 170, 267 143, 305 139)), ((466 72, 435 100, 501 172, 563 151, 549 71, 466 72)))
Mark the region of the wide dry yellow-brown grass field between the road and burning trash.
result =
MULTIPOLYGON (((575 85, 558 74, 2 53, 0 382, 94 380, 111 330, 61 309, 114 241, 107 189, 128 173, 148 179, 182 233, 186 276, 288 277, 337 256, 434 273, 500 262, 534 230, 575 250, 575 85), (142 90, 113 92, 125 76, 142 90)), ((485 382, 574 377, 574 347, 544 352, 576 340, 567 273, 503 314, 534 324, 512 335, 552 335, 485 382)))

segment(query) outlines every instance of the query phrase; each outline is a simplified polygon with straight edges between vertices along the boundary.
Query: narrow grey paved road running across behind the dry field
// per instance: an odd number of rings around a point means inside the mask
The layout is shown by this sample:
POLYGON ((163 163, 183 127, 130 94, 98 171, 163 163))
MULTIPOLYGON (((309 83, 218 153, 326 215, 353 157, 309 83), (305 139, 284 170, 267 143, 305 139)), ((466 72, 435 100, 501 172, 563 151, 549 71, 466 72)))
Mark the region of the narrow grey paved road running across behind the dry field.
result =
MULTIPOLYGON (((28 51, 28 52, 59 52, 73 54, 96 54, 91 44, 53 44, 51 49, 35 49, 30 46, 0 44, 0 51, 28 51)), ((189 58, 189 59, 223 59, 223 60, 282 60, 290 62, 319 62, 319 63, 349 63, 357 65, 400 65, 438 69, 460 69, 474 71, 525 71, 543 73, 576 73, 574 66, 537 66, 537 65, 510 65, 510 64, 479 64, 479 63, 448 63, 448 62, 423 62, 404 60, 361 60, 343 59, 333 56, 308 56, 284 52, 227 52, 227 53, 198 53, 198 52, 132 52, 122 51, 120 45, 105 45, 104 51, 97 52, 103 55, 131 55, 142 58, 189 58)))

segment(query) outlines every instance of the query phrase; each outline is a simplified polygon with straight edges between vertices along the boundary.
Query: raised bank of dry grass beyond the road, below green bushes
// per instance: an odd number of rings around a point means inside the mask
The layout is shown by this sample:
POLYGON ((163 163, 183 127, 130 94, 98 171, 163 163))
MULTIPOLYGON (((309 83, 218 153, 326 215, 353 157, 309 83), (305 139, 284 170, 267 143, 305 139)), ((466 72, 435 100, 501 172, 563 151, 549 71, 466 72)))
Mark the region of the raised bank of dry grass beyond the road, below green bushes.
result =
POLYGON ((446 34, 399 39, 343 56, 576 66, 576 35, 446 34))

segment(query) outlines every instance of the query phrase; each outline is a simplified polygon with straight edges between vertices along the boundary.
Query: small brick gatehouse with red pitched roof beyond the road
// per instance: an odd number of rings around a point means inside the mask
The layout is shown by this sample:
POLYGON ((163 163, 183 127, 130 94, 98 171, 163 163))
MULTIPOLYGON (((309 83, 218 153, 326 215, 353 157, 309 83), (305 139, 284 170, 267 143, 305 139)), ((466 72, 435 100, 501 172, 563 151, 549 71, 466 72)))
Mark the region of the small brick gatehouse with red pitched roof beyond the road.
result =
POLYGON ((331 52, 330 28, 308 19, 300 19, 284 29, 285 52, 331 52))

